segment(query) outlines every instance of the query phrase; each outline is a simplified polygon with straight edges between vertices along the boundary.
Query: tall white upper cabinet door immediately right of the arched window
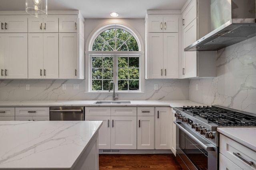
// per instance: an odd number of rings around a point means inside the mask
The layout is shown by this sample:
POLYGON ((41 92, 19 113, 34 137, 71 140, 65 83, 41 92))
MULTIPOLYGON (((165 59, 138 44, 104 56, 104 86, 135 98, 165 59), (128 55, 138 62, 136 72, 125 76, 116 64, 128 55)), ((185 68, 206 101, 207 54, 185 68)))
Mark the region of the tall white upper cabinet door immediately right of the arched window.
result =
POLYGON ((163 76, 163 34, 148 33, 148 78, 159 79, 163 76))

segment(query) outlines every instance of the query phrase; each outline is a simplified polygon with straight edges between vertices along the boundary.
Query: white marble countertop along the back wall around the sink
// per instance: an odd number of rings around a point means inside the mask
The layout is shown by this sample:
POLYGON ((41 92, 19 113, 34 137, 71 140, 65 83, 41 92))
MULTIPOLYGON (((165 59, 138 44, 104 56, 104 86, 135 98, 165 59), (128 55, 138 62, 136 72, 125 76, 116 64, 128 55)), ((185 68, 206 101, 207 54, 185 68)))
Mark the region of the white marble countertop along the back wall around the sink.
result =
POLYGON ((0 101, 0 107, 50 107, 50 106, 134 106, 134 107, 182 107, 182 106, 203 106, 201 103, 196 103, 189 100, 178 101, 162 101, 162 100, 131 100, 130 104, 94 104, 96 101, 90 100, 71 100, 71 101, 0 101))

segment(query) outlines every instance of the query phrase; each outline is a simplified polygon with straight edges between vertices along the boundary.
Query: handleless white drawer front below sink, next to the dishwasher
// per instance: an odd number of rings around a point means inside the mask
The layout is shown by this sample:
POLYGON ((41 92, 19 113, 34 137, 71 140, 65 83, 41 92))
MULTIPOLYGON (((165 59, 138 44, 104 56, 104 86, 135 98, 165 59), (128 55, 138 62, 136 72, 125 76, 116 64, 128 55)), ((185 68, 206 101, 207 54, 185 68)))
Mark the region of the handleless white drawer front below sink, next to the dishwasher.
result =
POLYGON ((85 107, 85 116, 110 116, 111 107, 85 107))

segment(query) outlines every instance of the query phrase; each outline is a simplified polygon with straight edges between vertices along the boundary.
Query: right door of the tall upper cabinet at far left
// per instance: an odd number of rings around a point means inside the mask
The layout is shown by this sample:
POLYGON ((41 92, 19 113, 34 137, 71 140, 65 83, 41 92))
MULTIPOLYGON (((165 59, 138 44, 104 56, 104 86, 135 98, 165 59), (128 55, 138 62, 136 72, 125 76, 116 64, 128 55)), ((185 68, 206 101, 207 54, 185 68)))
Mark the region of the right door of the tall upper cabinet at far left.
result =
POLYGON ((6 79, 28 78, 28 33, 5 34, 6 79))

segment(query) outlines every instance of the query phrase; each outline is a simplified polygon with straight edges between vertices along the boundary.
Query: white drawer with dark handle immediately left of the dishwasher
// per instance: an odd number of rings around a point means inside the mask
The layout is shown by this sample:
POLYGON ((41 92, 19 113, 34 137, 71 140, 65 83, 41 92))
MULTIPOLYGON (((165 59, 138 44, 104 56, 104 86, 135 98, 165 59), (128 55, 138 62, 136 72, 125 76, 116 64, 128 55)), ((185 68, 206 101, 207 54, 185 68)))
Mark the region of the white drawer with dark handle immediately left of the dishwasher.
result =
POLYGON ((50 116, 49 107, 16 107, 15 116, 50 116))

